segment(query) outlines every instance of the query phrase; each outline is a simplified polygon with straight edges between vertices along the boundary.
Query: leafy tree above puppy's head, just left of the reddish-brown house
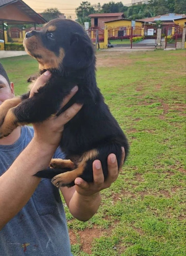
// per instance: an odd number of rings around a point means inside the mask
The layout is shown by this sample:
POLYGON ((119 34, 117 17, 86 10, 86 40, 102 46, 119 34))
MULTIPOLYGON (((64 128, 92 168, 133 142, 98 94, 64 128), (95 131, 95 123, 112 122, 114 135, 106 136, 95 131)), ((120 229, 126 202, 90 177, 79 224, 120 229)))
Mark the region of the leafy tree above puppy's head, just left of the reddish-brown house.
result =
POLYGON ((82 2, 78 8, 76 8, 76 15, 78 22, 84 25, 84 22, 90 22, 89 14, 95 13, 95 9, 89 2, 82 2))

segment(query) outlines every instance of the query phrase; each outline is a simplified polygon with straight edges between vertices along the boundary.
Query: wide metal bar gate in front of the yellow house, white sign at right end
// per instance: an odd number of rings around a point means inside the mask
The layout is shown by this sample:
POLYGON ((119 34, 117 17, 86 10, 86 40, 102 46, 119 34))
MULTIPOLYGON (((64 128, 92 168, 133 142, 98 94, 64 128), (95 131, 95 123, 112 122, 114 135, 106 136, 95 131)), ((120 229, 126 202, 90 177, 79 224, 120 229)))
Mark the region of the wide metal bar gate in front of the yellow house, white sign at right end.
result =
POLYGON ((108 47, 155 48, 156 38, 154 26, 108 28, 108 47))

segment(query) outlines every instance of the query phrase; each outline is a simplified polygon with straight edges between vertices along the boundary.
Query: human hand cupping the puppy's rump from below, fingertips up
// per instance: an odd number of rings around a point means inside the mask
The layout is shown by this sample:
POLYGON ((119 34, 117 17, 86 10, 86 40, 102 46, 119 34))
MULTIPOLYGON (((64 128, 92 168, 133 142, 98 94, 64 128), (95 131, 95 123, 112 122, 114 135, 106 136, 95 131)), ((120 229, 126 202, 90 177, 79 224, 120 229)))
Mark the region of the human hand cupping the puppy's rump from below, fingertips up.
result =
POLYGON ((125 150, 122 147, 122 160, 121 165, 118 166, 117 158, 114 154, 110 154, 107 158, 108 163, 108 178, 104 181, 103 170, 101 166, 101 162, 99 160, 95 160, 93 162, 93 176, 94 182, 88 183, 81 178, 76 178, 76 191, 78 194, 82 196, 94 196, 99 193, 99 191, 110 187, 110 185, 117 180, 118 174, 122 168, 123 162, 125 159, 125 150))

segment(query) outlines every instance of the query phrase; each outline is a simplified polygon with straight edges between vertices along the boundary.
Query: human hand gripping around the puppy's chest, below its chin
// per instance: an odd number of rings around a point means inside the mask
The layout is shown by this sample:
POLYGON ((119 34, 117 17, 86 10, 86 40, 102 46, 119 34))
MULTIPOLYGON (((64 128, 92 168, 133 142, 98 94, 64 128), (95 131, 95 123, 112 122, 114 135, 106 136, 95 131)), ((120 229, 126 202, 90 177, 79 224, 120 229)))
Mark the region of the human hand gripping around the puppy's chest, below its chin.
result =
MULTIPOLYGON (((34 95, 37 90, 44 86, 44 84, 51 78, 51 73, 46 71, 39 78, 37 78, 34 86, 31 90, 31 97, 34 95), (47 73, 47 75, 46 75, 47 73)), ((75 86, 71 92, 64 98, 61 108, 76 94, 78 87, 75 86)), ((59 116, 52 115, 47 120, 43 122, 34 123, 34 138, 33 140, 37 143, 42 143, 45 146, 52 146, 57 148, 61 135, 64 129, 64 124, 71 120, 82 108, 80 104, 73 104, 66 111, 61 113, 59 116)))

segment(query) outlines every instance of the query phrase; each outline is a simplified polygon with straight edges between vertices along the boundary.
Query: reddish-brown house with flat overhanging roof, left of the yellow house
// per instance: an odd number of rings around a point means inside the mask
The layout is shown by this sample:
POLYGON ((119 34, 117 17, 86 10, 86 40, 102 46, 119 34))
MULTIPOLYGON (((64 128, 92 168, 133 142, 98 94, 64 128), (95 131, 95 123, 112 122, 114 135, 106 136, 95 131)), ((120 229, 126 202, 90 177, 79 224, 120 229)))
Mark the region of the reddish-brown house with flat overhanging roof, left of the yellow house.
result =
POLYGON ((88 15, 91 18, 91 28, 100 28, 104 29, 105 22, 110 20, 118 20, 124 18, 123 12, 115 13, 92 13, 88 15))

